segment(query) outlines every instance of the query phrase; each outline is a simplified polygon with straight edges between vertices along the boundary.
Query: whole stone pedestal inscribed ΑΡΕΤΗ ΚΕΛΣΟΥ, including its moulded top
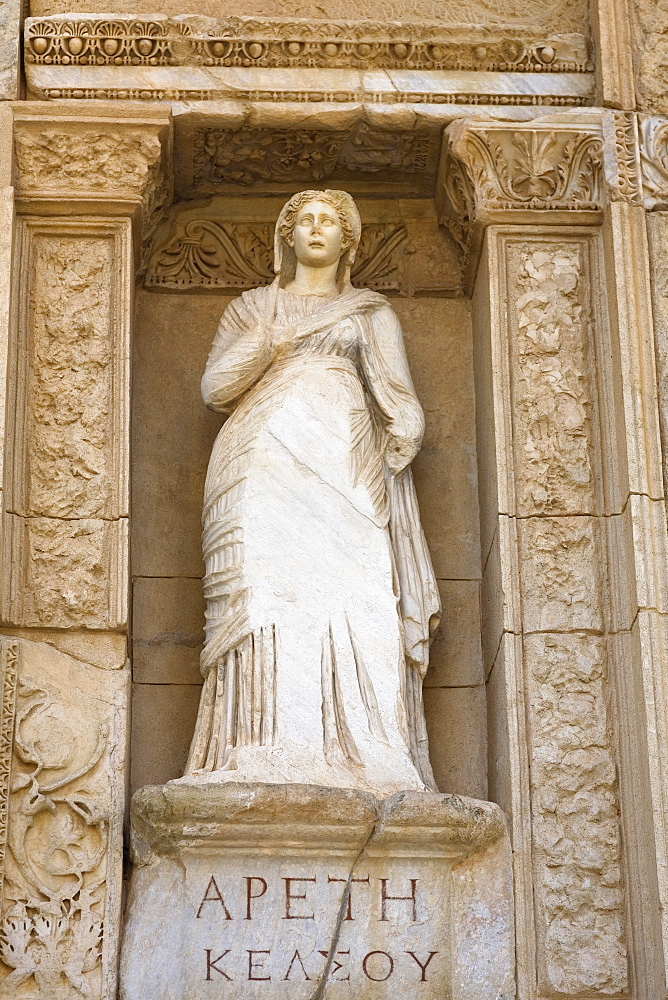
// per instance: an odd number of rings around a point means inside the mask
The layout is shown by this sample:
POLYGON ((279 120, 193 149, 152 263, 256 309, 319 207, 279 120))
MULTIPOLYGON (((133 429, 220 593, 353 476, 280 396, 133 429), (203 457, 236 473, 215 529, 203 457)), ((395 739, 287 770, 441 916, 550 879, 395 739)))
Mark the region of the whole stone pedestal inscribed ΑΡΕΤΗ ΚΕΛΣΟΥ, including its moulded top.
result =
POLYGON ((123 1000, 514 996, 499 808, 174 782, 132 812, 123 1000))

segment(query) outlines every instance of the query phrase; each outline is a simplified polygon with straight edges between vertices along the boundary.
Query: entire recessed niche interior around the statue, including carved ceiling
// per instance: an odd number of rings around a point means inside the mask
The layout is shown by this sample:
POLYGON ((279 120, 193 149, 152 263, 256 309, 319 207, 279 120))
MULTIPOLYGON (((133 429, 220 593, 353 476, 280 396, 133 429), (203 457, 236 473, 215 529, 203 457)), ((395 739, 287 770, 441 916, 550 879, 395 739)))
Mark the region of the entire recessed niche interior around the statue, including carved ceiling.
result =
POLYGON ((432 198, 440 129, 177 129, 177 201, 136 299, 132 404, 131 785, 183 773, 199 700, 200 511, 222 418, 199 381, 232 296, 273 277, 273 227, 295 190, 342 187, 363 222, 353 282, 388 295, 426 414, 414 474, 444 608, 425 683, 439 787, 487 797, 470 302, 432 198))

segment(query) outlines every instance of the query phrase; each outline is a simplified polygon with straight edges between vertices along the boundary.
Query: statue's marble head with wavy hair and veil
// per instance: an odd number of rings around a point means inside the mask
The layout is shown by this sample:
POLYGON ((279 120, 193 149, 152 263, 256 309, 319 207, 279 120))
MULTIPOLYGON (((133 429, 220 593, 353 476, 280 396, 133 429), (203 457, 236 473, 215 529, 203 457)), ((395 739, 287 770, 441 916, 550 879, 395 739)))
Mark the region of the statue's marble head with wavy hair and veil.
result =
POLYGON ((281 285, 294 278, 297 261, 322 267, 336 260, 339 285, 347 285, 360 233, 357 206, 345 191, 300 191, 293 195, 276 223, 274 268, 281 285))

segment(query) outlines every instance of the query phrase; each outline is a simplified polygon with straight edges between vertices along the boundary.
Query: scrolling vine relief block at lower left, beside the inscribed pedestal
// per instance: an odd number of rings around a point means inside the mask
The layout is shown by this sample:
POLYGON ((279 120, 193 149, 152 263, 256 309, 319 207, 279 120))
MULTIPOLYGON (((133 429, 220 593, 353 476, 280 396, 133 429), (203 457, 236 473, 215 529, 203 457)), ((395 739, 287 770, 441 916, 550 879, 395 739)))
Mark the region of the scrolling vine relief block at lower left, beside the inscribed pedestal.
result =
POLYGON ((102 992, 105 916, 117 877, 109 855, 117 825, 110 728, 98 704, 105 692, 94 681, 91 697, 86 678, 77 690, 74 674, 84 666, 41 644, 3 640, 2 657, 14 740, 11 768, 1 775, 9 825, 0 997, 92 998, 102 992))

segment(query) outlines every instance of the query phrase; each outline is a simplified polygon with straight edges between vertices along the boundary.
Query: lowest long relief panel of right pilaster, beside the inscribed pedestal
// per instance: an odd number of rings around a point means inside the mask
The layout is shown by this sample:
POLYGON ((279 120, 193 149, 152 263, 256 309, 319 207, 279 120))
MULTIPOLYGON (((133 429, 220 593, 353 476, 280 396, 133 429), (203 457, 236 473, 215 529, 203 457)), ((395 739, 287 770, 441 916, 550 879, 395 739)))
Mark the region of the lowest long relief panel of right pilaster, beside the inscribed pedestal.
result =
POLYGON ((618 996, 628 971, 605 640, 527 636, 524 653, 542 989, 618 996))

